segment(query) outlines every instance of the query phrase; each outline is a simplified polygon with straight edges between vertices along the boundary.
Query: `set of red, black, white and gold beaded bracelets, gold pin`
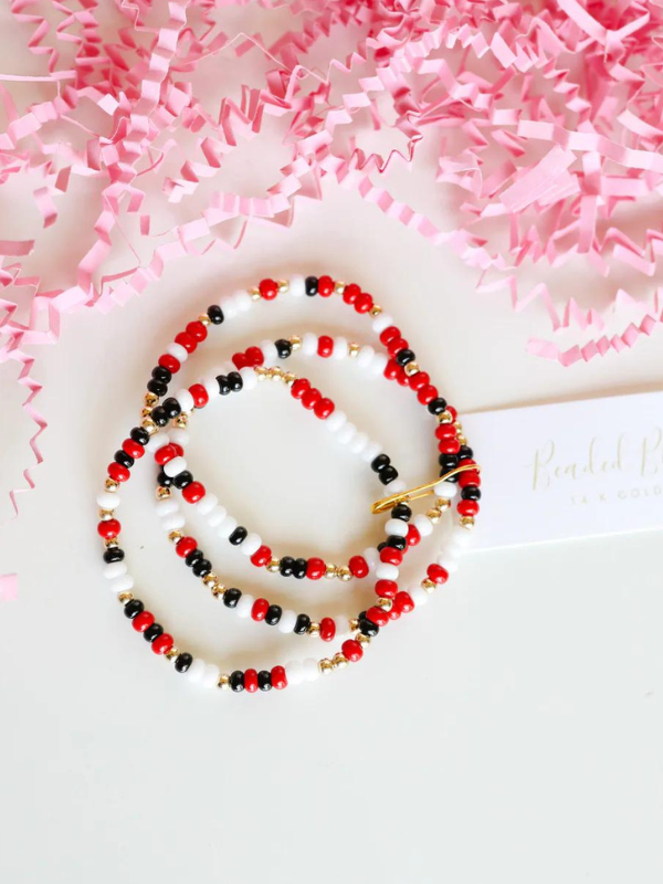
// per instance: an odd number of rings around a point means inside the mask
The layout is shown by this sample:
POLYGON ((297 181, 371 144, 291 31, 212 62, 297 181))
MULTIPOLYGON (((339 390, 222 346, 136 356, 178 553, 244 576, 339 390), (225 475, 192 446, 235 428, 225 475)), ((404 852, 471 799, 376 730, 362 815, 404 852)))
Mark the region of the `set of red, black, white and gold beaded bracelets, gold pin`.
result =
MULTIPOLYGON (((283 688, 287 684, 313 681, 319 674, 327 674, 336 669, 343 669, 349 662, 356 662, 361 659, 364 649, 390 620, 397 620, 402 613, 411 611, 415 604, 423 604, 428 599, 428 594, 436 586, 444 583, 450 571, 455 568, 457 555, 467 545, 470 540, 469 529, 473 527, 474 517, 478 513, 478 498, 481 497, 478 466, 472 459, 471 450, 466 446, 466 440, 462 435, 462 427, 456 420, 455 411, 439 396, 436 388, 430 383, 429 376, 420 370, 414 361, 414 354, 409 349, 408 343, 403 340, 400 330, 393 325, 391 318, 386 316, 381 308, 373 304, 372 297, 361 292, 359 286, 334 283, 328 276, 322 276, 319 280, 313 276, 306 280, 296 276, 290 283, 263 280, 255 290, 224 297, 219 305, 212 305, 207 314, 189 323, 186 332, 176 336, 175 341, 159 358, 147 387, 148 392, 145 397, 143 422, 140 427, 131 430, 129 438, 124 441, 122 448, 116 452, 113 463, 108 466, 105 490, 97 498, 102 507, 98 533, 104 538, 106 546, 104 552, 106 577, 124 606, 125 614, 131 620, 136 631, 143 633, 144 638, 151 644, 152 651, 173 661, 176 671, 186 672, 191 681, 199 681, 208 686, 218 685, 222 690, 232 688, 234 692, 246 690, 249 693, 254 693, 259 688, 269 691, 271 687, 283 688), (371 347, 348 344, 345 339, 335 341, 328 336, 304 335, 303 337, 295 336, 290 340, 264 341, 260 347, 250 347, 242 354, 235 354, 233 357, 234 369, 229 370, 228 373, 208 378, 202 383, 192 385, 190 388, 181 390, 175 397, 165 398, 173 375, 180 370, 188 356, 207 338, 208 328, 211 325, 221 325, 224 320, 248 309, 254 301, 272 301, 276 295, 287 292, 294 296, 304 294, 314 296, 318 294, 323 297, 328 297, 334 292, 338 293, 345 303, 354 306, 358 314, 368 314, 372 318, 373 332, 379 335, 380 341, 387 347, 388 354, 378 354, 371 347), (306 562, 304 575, 302 575, 303 566, 294 560, 297 565, 297 576, 307 576, 311 579, 319 579, 325 573, 327 577, 338 576, 344 580, 348 580, 352 577, 366 576, 371 568, 375 569, 377 578, 375 603, 366 611, 360 612, 357 618, 348 620, 349 631, 356 632, 356 634, 354 638, 344 641, 338 653, 332 659, 325 657, 320 661, 308 659, 303 663, 288 663, 285 667, 274 666, 271 671, 265 670, 260 673, 253 669, 245 672, 238 670, 231 674, 221 673, 214 664, 206 664, 200 659, 193 660, 190 654, 182 653, 176 649, 172 636, 166 633, 160 624, 155 622, 151 613, 145 611, 143 602, 134 598, 131 592, 134 581, 127 572, 124 564, 124 551, 120 549, 118 540, 120 525, 115 518, 115 509, 119 504, 117 490, 120 483, 129 478, 135 461, 143 457, 146 448, 152 451, 156 450, 157 461, 160 461, 159 465, 162 467, 159 473, 160 484, 158 487, 159 505, 162 511, 171 509, 169 505, 172 503, 172 498, 169 486, 172 485, 180 488, 185 499, 196 505, 201 513, 207 514, 208 517, 210 514, 212 517, 219 517, 219 504, 215 498, 208 495, 202 483, 193 478, 183 459, 183 444, 188 441, 185 438, 188 415, 194 409, 203 408, 211 394, 220 393, 225 396, 244 387, 253 387, 259 378, 270 377, 283 380, 294 398, 301 399, 302 404, 311 409, 320 420, 328 421, 328 427, 333 432, 343 430, 346 441, 350 441, 357 434, 357 431, 352 425, 349 425, 350 430, 348 431, 347 419, 335 410, 332 400, 324 398, 318 390, 312 388, 306 379, 297 379, 292 372, 284 372, 280 366, 273 365, 275 358, 287 358, 293 350, 297 349, 302 349, 305 354, 317 352, 324 358, 329 358, 334 354, 336 354, 336 358, 344 358, 345 356, 357 358, 359 364, 372 368, 373 373, 383 373, 387 378, 412 389, 417 393, 418 400, 438 419, 435 435, 439 440, 441 452, 441 477, 433 483, 428 483, 425 486, 408 492, 398 480, 398 473, 390 463, 389 457, 381 452, 376 454, 371 460, 371 466, 378 473, 382 484, 391 486, 392 494, 385 501, 378 502, 373 507, 373 512, 385 512, 385 509, 392 507, 392 518, 389 520, 390 530, 397 532, 388 535, 389 539, 385 545, 380 545, 379 559, 373 559, 370 556, 369 561, 364 556, 352 557, 355 571, 352 571, 351 564, 340 568, 325 565, 323 571, 320 567, 322 560, 302 560, 306 562), (164 401, 158 404, 160 399, 164 399, 164 401), (166 427, 170 421, 173 422, 175 427, 169 431, 169 434, 160 431, 159 428, 166 427), (443 557, 438 557, 436 561, 429 565, 427 577, 419 587, 413 588, 410 592, 400 589, 398 565, 402 560, 403 551, 409 546, 414 546, 422 535, 430 534, 433 525, 439 523, 442 513, 451 508, 451 499, 454 496, 456 483, 462 488, 462 499, 456 505, 460 524, 452 532, 451 543, 448 545, 443 557), (452 488, 453 492, 451 491, 452 488), (417 516, 413 519, 413 524, 409 525, 403 532, 403 528, 399 527, 399 525, 400 523, 407 523, 411 516, 411 511, 406 505, 406 502, 431 491, 438 494, 436 506, 429 511, 425 517, 417 516), (417 524, 418 520, 419 525, 417 524), (401 546, 403 547, 402 549, 399 548, 401 546)), ((368 440, 365 442, 361 434, 359 436, 361 445, 355 444, 357 449, 365 450, 368 448, 368 440)), ((223 508, 221 507, 221 509, 223 508)), ((212 572, 211 565, 207 562, 202 552, 197 550, 197 545, 193 543, 193 547, 191 547, 191 539, 182 535, 179 528, 176 527, 177 519, 175 523, 172 520, 173 516, 176 516, 175 511, 162 512, 162 515, 165 516, 164 520, 168 528, 169 538, 176 545, 176 550, 185 558, 193 573, 200 577, 203 583, 211 587, 212 594, 215 598, 223 599, 227 607, 234 607, 240 602, 240 598, 244 598, 241 610, 250 614, 255 621, 260 622, 264 619, 272 624, 278 623, 278 629, 282 632, 290 631, 292 627, 292 631, 296 634, 316 634, 327 641, 335 636, 338 624, 330 618, 323 618, 317 623, 308 615, 299 614, 297 617, 294 612, 288 612, 284 621, 280 606, 270 604, 266 599, 252 599, 248 593, 241 597, 240 590, 222 586, 217 575, 212 572), (287 629, 284 628, 286 623, 287 629)), ((222 513, 220 524, 223 524, 227 518, 228 515, 222 513)), ((228 537, 234 536, 238 546, 250 540, 245 550, 250 550, 252 560, 255 557, 253 564, 259 567, 264 566, 267 570, 280 573, 283 573, 283 571, 285 571, 285 575, 295 572, 295 569, 291 568, 290 561, 287 561, 290 557, 275 559, 272 557, 271 550, 264 547, 259 537, 252 536, 250 538, 246 529, 242 528, 242 526, 236 526, 236 524, 233 525, 232 519, 230 526, 225 524, 223 530, 228 530, 229 527, 228 537), (238 530, 239 528, 241 530, 238 530), (256 540, 259 541, 257 545, 256 540), (283 568, 284 559, 287 561, 287 567, 285 568, 283 568)), ((352 559, 350 559, 350 562, 352 562, 352 559)))

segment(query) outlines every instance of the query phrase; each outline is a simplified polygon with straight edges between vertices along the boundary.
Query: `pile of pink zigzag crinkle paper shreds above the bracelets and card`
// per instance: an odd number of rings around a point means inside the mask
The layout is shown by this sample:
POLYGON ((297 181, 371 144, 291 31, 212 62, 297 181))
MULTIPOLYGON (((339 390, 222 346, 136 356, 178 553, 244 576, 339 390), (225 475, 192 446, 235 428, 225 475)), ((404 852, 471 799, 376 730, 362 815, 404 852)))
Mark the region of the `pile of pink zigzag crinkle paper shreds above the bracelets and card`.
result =
POLYGON ((62 287, 24 270, 40 230, 0 240, 0 362, 20 366, 38 463, 31 369, 62 315, 109 311, 173 259, 236 248, 255 221, 290 224, 325 178, 454 249, 480 291, 537 317, 543 305, 534 355, 620 354, 663 320, 663 0, 9 0, 6 17, 39 72, 0 63, 0 186, 22 186, 42 229, 76 180, 97 186, 92 244, 62 287), (281 34, 229 27, 249 12, 281 34), (255 78, 224 91, 219 76, 210 99, 202 65, 246 55, 255 78), (217 182, 253 138, 287 158, 260 198, 217 182), (418 173, 412 206, 390 191, 396 166, 418 173), (452 194, 446 225, 415 208, 421 176, 452 194))

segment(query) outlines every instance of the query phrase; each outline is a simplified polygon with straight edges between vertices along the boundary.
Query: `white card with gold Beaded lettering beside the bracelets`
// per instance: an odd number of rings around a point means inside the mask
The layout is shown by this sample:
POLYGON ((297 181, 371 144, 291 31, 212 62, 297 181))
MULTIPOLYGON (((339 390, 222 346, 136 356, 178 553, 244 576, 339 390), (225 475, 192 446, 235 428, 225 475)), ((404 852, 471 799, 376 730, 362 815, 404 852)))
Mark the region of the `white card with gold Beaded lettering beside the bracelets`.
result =
POLYGON ((476 547, 663 527, 663 392, 463 415, 476 547))

